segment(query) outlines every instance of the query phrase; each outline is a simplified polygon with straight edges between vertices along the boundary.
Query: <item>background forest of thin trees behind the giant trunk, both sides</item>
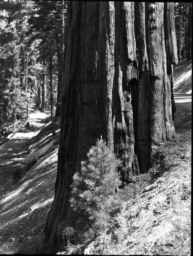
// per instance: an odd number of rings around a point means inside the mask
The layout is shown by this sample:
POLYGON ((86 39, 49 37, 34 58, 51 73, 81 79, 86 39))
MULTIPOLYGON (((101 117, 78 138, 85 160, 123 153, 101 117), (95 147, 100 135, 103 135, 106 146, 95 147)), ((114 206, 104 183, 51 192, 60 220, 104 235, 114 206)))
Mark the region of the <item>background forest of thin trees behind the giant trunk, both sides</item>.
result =
MULTIPOLYGON (((0 2, 0 125, 26 122, 34 110, 60 116, 66 1, 0 2)), ((190 59, 192 4, 176 2, 178 58, 190 59)))

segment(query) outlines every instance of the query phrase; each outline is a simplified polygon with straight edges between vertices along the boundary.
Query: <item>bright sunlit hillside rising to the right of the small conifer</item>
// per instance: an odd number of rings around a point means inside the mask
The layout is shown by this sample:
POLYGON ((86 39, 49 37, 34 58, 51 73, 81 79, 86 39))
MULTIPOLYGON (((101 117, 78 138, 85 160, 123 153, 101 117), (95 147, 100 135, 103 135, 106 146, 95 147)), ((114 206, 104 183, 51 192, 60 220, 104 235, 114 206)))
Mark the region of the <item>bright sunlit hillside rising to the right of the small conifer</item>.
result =
POLYGON ((160 145, 155 165, 144 176, 149 176, 149 185, 134 199, 128 198, 109 227, 88 246, 90 254, 190 255, 190 131, 160 145))

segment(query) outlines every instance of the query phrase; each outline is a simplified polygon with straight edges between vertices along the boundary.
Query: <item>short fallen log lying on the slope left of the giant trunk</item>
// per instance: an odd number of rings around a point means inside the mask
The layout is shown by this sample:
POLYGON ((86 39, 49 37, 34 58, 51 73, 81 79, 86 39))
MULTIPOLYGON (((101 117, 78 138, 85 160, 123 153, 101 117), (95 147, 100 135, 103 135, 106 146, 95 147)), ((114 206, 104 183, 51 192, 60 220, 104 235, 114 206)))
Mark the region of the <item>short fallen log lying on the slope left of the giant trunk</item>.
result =
POLYGON ((30 155, 28 155, 24 162, 27 165, 31 165, 33 162, 36 162, 38 158, 42 157, 47 152, 53 150, 54 148, 54 140, 46 144, 45 146, 41 147, 39 150, 32 152, 30 155))

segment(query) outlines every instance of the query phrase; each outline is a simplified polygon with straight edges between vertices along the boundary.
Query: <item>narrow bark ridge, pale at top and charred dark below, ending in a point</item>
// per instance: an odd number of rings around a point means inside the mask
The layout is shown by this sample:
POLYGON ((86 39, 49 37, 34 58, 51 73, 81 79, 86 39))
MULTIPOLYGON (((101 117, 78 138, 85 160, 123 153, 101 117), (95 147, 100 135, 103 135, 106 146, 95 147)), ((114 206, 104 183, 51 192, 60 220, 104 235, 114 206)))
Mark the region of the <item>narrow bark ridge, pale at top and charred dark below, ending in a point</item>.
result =
POLYGON ((147 160, 150 155, 149 134, 149 61, 146 44, 145 3, 135 3, 135 35, 138 55, 138 119, 136 152, 141 173, 147 170, 147 160))

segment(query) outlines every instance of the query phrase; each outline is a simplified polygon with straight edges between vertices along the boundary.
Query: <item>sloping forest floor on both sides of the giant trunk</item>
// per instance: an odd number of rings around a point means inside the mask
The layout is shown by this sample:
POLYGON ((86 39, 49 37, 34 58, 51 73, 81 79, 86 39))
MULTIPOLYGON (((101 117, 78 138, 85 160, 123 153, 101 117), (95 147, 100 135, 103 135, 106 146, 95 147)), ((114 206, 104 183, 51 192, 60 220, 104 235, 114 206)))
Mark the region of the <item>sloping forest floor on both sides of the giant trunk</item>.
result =
MULTIPOLYGON (((89 245, 90 254, 190 255, 191 106, 176 105, 176 138, 159 146, 153 168, 131 185, 140 192, 125 202, 108 234, 89 245)), ((0 146, 0 254, 37 253, 44 239, 60 134, 46 130, 46 118, 41 112, 31 114, 30 127, 0 146), (35 163, 25 163, 52 140, 35 163)))

